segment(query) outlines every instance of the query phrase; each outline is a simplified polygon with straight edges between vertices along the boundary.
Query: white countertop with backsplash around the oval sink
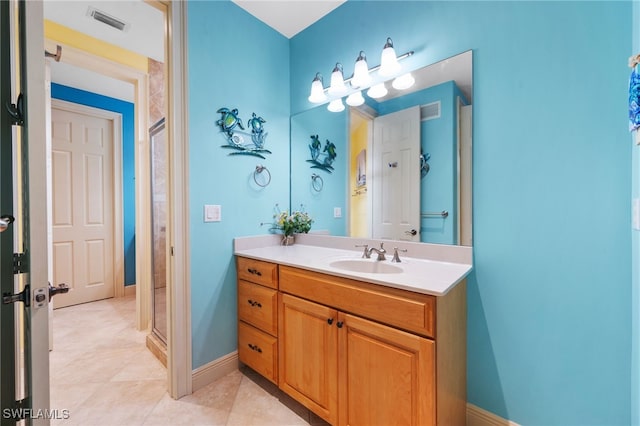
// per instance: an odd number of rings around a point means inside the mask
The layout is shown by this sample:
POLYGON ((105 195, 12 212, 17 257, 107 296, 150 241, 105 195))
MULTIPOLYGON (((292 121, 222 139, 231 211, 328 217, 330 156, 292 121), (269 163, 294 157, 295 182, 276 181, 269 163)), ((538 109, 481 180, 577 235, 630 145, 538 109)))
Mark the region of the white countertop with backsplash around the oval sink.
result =
POLYGON ((385 241, 387 260, 378 261, 375 253, 372 253, 371 259, 362 259, 362 249, 355 247, 345 249, 344 247, 353 247, 355 244, 362 243, 369 243, 370 247, 379 247, 379 241, 313 236, 311 234, 297 237, 297 240, 299 242, 292 246, 281 246, 279 236, 239 238, 234 240, 234 254, 434 296, 445 295, 472 269, 470 247, 440 246, 442 247, 441 252, 444 251, 445 254, 436 251, 433 256, 429 256, 431 251, 438 250, 437 245, 419 244, 419 246, 431 246, 419 247, 416 246, 416 243, 385 241), (416 255, 420 255, 420 257, 403 256, 401 253, 400 263, 391 262, 393 247, 396 246, 399 248, 408 247, 410 252, 415 251, 416 255), (461 250, 456 251, 457 248, 461 250), (447 251, 449 252, 447 253, 447 251), (447 261, 447 256, 454 261, 447 261), (438 260, 429 257, 435 257, 438 260), (401 271, 393 273, 355 272, 331 265, 332 262, 339 260, 383 262, 400 268, 401 271))

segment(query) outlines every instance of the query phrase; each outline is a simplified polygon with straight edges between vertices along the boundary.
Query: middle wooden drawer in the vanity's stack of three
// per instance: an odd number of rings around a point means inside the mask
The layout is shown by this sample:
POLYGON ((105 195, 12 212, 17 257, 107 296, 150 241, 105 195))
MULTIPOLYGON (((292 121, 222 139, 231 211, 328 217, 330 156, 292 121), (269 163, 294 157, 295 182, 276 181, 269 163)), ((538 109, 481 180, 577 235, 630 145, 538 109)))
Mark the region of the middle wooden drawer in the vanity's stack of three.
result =
POLYGON ((238 280, 238 317, 260 330, 278 335, 278 292, 238 280))

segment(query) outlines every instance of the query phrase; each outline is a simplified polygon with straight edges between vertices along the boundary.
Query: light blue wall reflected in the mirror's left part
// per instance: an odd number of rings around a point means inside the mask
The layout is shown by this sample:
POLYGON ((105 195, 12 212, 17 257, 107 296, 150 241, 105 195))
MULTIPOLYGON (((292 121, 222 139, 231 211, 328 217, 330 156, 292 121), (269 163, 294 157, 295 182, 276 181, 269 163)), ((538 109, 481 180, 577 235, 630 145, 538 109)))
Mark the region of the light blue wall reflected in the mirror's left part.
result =
POLYGON ((331 235, 347 233, 348 133, 346 109, 335 113, 321 105, 291 117, 291 208, 296 210, 300 204, 304 205, 314 219, 312 231, 327 230, 331 235), (306 161, 311 158, 311 135, 318 135, 323 148, 327 140, 336 145, 337 155, 331 173, 312 169, 306 161), (322 178, 321 191, 312 187, 313 173, 322 178), (342 217, 333 217, 334 207, 342 209, 342 217))

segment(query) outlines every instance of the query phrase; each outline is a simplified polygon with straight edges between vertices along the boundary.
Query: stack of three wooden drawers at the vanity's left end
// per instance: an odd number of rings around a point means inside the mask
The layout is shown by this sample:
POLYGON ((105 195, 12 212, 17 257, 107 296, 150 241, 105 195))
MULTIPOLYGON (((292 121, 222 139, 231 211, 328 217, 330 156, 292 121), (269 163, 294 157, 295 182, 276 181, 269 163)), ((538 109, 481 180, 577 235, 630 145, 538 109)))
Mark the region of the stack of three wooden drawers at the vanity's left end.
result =
POLYGON ((278 383, 278 265, 237 258, 238 358, 278 383))

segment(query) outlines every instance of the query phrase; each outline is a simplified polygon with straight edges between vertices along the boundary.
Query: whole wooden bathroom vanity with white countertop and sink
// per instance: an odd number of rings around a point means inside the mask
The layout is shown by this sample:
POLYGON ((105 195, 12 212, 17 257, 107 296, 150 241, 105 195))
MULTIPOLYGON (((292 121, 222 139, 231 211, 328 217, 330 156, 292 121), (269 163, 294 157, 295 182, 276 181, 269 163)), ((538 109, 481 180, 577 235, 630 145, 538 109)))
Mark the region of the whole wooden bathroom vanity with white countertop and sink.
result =
POLYGON ((236 240, 240 361, 334 425, 465 424, 470 248, 391 263, 302 240, 236 240))

